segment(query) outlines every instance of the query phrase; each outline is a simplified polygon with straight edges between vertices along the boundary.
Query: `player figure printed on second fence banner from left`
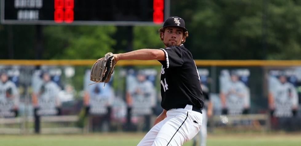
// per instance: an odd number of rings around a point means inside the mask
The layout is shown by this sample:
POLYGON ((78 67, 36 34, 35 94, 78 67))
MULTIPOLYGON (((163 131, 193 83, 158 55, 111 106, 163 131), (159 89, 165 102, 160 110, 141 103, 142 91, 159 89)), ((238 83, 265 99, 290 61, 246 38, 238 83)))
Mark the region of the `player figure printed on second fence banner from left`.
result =
POLYGON ((32 94, 32 103, 34 108, 41 110, 40 114, 60 115, 61 102, 58 97, 60 87, 53 81, 49 73, 42 73, 42 84, 32 94))

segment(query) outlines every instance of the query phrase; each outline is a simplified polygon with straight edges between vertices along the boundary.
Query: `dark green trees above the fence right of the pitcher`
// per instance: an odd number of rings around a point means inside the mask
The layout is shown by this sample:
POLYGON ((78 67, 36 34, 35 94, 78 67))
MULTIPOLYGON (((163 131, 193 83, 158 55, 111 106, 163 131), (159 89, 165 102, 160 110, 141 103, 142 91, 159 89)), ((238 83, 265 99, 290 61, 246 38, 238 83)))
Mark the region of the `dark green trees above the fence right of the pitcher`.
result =
POLYGON ((174 4, 172 15, 186 20, 185 45, 197 59, 300 59, 300 1, 175 0, 174 4))

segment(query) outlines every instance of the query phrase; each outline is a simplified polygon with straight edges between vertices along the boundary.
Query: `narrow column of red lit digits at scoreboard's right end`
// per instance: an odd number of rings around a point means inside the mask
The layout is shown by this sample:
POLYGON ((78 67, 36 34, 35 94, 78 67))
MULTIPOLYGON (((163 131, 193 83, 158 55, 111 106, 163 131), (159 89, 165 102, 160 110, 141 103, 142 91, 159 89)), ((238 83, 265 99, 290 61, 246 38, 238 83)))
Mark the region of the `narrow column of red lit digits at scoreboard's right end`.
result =
POLYGON ((156 24, 161 24, 164 21, 164 0, 154 0, 153 1, 153 16, 152 21, 156 24))

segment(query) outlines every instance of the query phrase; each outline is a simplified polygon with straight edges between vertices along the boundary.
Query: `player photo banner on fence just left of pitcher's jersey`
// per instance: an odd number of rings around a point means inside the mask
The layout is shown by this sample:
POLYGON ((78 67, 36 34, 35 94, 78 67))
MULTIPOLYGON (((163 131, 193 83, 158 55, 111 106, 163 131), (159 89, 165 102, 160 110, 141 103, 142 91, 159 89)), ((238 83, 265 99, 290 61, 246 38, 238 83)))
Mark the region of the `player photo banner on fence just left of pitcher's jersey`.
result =
POLYGON ((132 116, 151 115, 156 105, 155 69, 129 69, 126 77, 126 101, 132 116))

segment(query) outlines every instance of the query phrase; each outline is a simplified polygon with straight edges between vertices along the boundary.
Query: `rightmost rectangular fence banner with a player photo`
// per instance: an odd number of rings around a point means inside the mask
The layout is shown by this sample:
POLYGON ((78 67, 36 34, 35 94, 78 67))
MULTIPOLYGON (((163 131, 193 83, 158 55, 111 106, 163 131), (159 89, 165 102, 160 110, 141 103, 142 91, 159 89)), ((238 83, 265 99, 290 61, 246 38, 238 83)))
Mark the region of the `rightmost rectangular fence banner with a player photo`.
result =
POLYGON ((292 69, 270 70, 268 104, 275 117, 292 117, 298 110, 296 90, 298 72, 292 69))

